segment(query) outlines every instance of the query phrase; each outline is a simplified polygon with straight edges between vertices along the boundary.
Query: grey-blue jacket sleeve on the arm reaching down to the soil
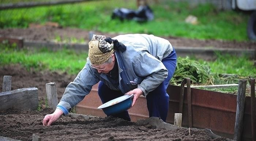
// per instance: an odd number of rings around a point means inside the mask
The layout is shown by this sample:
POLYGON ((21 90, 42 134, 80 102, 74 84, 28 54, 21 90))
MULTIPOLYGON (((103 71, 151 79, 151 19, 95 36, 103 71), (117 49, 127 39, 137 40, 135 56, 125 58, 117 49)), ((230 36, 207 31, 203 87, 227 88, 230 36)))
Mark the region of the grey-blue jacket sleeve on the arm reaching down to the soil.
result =
POLYGON ((88 61, 84 68, 78 73, 73 82, 69 83, 65 89, 65 92, 57 105, 66 115, 76 104, 78 104, 83 98, 90 93, 93 85, 99 81, 98 77, 93 75, 88 61))

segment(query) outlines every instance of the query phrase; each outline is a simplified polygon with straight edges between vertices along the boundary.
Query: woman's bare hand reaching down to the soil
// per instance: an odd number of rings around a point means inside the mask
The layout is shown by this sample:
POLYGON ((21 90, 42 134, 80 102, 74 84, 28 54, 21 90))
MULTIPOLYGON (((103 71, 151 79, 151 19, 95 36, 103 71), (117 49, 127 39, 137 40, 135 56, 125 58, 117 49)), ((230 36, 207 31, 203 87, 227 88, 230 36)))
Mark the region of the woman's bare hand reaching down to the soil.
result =
POLYGON ((50 126, 53 122, 57 121, 57 119, 59 119, 61 115, 63 115, 63 111, 61 111, 59 108, 56 108, 54 113, 45 115, 43 125, 50 126))

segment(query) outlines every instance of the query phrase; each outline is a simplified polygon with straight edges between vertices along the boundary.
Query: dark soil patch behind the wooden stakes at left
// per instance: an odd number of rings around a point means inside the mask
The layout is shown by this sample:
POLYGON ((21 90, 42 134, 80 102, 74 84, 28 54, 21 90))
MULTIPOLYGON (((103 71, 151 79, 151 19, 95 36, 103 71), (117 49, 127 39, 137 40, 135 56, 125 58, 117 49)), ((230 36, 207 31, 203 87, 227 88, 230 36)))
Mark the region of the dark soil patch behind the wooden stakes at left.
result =
MULTIPOLYGON (((46 99, 46 83, 56 83, 60 100, 67 85, 75 79, 75 76, 69 76, 66 73, 27 71, 20 65, 0 66, 0 92, 3 91, 3 77, 8 75, 12 76, 11 90, 36 87, 38 88, 38 98, 42 101, 46 99)), ((44 103, 42 104, 44 107, 44 103)))

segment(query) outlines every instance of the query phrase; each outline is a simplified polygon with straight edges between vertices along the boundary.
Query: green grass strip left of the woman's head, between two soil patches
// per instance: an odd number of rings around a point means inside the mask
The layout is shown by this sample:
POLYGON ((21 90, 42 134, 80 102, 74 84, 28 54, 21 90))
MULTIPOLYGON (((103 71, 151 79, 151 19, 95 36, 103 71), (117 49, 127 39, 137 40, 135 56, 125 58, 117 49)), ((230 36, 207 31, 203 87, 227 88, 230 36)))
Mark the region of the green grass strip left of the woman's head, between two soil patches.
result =
MULTIPOLYGON (((3 45, 2 45, 3 46, 3 45)), ((15 50, 3 49, 0 52, 0 64, 21 64, 27 70, 31 68, 41 71, 57 71, 67 72, 68 74, 77 74, 86 63, 87 52, 74 50, 58 50, 49 51, 47 49, 41 50, 15 50)))

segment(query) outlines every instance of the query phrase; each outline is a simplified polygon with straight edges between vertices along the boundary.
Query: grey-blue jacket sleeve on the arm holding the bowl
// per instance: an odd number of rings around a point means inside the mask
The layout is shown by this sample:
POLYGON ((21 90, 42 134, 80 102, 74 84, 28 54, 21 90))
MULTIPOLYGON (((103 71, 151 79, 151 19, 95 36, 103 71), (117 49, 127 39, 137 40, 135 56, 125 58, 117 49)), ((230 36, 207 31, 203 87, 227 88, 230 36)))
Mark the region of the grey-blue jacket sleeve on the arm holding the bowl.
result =
POLYGON ((138 85, 144 96, 157 88, 168 76, 168 70, 163 63, 150 53, 142 53, 134 62, 135 73, 145 79, 138 85))

